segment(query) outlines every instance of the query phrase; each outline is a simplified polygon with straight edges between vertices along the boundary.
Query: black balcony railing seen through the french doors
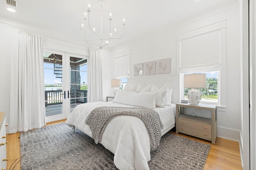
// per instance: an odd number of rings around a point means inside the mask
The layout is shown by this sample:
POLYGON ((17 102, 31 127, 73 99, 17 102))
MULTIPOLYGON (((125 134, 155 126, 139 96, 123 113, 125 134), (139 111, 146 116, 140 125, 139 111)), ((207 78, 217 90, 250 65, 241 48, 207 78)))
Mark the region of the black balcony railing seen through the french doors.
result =
MULTIPOLYGON (((76 99, 70 99, 70 103, 87 103, 87 90, 77 90, 79 96, 76 99)), ((67 95, 67 94, 66 94, 67 95)), ((67 96, 66 96, 67 97, 67 96)), ((72 95, 71 95, 72 97, 72 95)), ((45 106, 62 104, 62 90, 45 90, 44 91, 45 106)))

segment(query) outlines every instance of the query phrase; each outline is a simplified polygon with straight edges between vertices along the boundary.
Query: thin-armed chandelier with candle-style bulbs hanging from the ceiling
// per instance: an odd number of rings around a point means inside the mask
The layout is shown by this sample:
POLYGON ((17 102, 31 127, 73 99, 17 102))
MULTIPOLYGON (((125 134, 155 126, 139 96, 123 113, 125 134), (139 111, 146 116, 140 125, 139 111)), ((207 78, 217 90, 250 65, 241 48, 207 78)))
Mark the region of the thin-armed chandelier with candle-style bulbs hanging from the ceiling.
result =
MULTIPOLYGON (((124 26, 125 26, 125 19, 123 19, 123 33, 122 33, 122 36, 121 37, 116 37, 117 35, 117 30, 116 28, 114 28, 114 37, 112 37, 112 32, 111 32, 111 21, 112 21, 112 14, 110 13, 109 14, 109 35, 106 35, 106 37, 103 37, 102 35, 102 4, 104 3, 103 0, 99 0, 100 2, 100 34, 97 34, 96 31, 95 31, 95 27, 91 27, 90 25, 90 4, 88 4, 88 18, 86 18, 86 12, 84 12, 84 23, 82 23, 82 27, 81 27, 81 33, 82 33, 82 39, 84 39, 84 41, 86 41, 86 43, 92 45, 92 46, 96 46, 98 47, 98 49, 103 49, 103 47, 105 47, 106 45, 110 44, 111 45, 111 41, 112 39, 120 39, 122 37, 124 37, 124 26), (86 22, 88 20, 88 29, 92 35, 93 35, 93 39, 87 39, 86 37, 86 34, 88 34, 86 32, 86 22), (104 43, 105 41, 105 43, 104 43), (97 42, 97 43, 95 43, 97 42)), ((96 49, 96 50, 98 50, 96 49)))

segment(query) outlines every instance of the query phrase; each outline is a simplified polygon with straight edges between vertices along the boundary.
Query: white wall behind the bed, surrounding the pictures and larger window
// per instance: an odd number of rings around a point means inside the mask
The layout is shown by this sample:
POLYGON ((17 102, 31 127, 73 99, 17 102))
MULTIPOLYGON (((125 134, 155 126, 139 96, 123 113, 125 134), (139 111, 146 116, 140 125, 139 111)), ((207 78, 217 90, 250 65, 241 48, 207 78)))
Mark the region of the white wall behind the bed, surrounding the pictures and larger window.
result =
MULTIPOLYGON (((115 53, 131 50, 133 64, 171 58, 170 75, 179 74, 176 57, 176 36, 188 31, 226 20, 226 53, 220 66, 220 105, 218 107, 218 136, 240 141, 240 49, 239 7, 236 1, 168 25, 138 39, 116 47, 115 53)), ((210 41, 210 40, 209 40, 210 41)), ((195 42, 196 43, 196 42, 195 42)), ((133 75, 133 70, 131 72, 133 75)), ((179 82, 177 82, 179 83, 179 82)))

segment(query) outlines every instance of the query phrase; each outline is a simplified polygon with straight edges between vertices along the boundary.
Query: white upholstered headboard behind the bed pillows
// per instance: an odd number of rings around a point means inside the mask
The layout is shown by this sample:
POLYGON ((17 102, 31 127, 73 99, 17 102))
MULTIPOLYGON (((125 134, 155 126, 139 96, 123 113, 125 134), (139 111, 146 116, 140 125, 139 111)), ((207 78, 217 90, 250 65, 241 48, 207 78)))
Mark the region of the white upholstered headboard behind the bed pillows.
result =
POLYGON ((158 88, 164 84, 169 83, 169 88, 172 88, 172 102, 180 102, 180 76, 179 75, 167 75, 167 76, 138 76, 128 78, 128 84, 155 84, 158 88))

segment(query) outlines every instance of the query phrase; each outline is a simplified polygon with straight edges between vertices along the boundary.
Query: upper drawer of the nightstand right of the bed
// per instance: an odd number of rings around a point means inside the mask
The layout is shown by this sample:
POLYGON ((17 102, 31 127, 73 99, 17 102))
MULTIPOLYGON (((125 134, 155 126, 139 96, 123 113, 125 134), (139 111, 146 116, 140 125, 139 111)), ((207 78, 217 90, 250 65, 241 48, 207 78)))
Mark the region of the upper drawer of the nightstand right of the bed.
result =
POLYGON ((194 129, 199 129, 202 131, 212 132, 212 126, 204 123, 198 123, 198 122, 189 121, 185 119, 179 119, 178 124, 181 126, 192 127, 194 129))

